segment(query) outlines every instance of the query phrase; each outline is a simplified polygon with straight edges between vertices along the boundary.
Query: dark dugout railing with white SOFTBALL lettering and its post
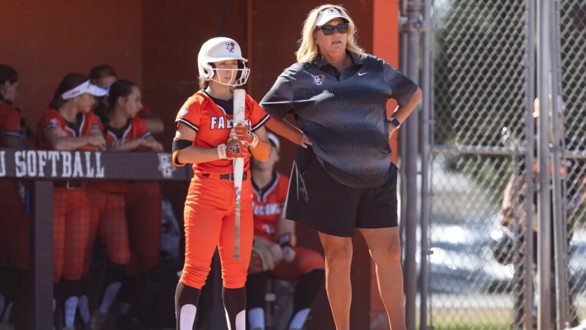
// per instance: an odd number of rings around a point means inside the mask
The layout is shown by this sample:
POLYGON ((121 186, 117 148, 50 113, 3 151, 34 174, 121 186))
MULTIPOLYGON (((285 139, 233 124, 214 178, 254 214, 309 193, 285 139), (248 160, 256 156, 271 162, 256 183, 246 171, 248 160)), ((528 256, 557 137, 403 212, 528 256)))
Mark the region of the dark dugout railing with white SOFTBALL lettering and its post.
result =
POLYGON ((28 315, 18 329, 53 329, 53 181, 187 184, 192 176, 190 167, 173 166, 169 153, 0 149, 0 180, 22 180, 29 196, 30 267, 25 287, 28 315))

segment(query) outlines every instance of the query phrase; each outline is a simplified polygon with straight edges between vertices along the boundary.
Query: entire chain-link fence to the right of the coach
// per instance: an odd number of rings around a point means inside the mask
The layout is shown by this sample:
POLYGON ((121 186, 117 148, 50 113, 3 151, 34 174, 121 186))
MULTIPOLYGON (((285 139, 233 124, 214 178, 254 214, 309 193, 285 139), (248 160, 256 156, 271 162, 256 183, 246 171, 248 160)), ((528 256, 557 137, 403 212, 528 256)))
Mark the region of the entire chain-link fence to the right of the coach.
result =
MULTIPOLYGON (((544 81, 536 79, 543 70, 534 74, 536 58, 543 54, 534 36, 550 33, 537 19, 542 17, 541 2, 496 0, 487 5, 435 0, 432 4, 432 148, 430 161, 423 164, 430 173, 431 225, 428 237, 422 238, 431 242, 431 275, 428 300, 421 302, 428 308, 422 311, 427 310, 428 323, 435 328, 533 327, 539 304, 534 288, 537 224, 542 223, 536 216, 537 200, 545 191, 538 180, 539 107, 534 104, 536 84, 544 81), (534 163, 526 166, 527 153, 534 163), (531 180, 527 191, 532 196, 526 194, 526 179, 531 180), (530 210, 533 224, 527 229, 530 210)), ((548 193, 552 199, 548 210, 552 219, 555 210, 562 210, 561 221, 567 221, 568 249, 562 257, 568 264, 570 290, 561 295, 569 310, 561 311, 567 311, 567 325, 575 326, 586 318, 586 1, 554 4, 551 26, 556 32, 551 33, 550 60, 560 63, 550 65, 550 90, 554 99, 560 96, 564 113, 560 147, 565 152, 560 166, 563 206, 556 208, 555 194, 548 193), (558 82, 559 92, 554 86, 558 82)), ((556 109, 555 102, 551 108, 556 109)), ((557 139, 548 133, 552 151, 557 139)), ((548 140, 546 133, 541 136, 548 140)), ((553 170, 550 167, 550 174, 553 170)), ((556 186, 553 181, 551 185, 556 186)), ((551 270, 542 270, 544 276, 551 276, 552 326, 556 323, 554 227, 551 240, 546 238, 551 270)), ((560 265, 565 267, 564 262, 560 265)))

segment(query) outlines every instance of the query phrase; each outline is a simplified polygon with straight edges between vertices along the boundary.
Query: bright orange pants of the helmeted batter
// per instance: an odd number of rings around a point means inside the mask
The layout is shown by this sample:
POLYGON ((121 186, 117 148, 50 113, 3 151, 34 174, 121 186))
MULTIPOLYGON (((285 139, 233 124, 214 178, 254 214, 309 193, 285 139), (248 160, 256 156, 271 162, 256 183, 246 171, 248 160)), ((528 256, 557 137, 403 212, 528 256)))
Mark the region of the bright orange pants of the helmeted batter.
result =
POLYGON ((240 197, 240 260, 234 255, 234 183, 196 173, 189 186, 185 221, 185 265, 179 282, 200 289, 206 282, 216 246, 224 287, 244 287, 253 245, 253 188, 250 173, 242 181, 240 197))

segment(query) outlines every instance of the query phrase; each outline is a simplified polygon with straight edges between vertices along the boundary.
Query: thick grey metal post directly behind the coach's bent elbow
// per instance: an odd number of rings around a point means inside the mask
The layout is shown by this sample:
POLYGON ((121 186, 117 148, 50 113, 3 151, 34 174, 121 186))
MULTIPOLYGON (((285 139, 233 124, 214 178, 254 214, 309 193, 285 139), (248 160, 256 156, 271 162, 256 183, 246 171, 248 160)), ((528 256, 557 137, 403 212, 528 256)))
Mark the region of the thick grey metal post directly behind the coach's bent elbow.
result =
MULTIPOLYGON (((415 83, 419 83, 419 18, 421 14, 420 0, 411 0, 407 4, 408 24, 408 52, 409 64, 407 76, 415 83)), ((415 329, 416 296, 417 296, 417 265, 415 263, 415 246, 417 245, 417 151, 419 150, 419 122, 418 107, 407 119, 406 162, 406 238, 405 238, 405 268, 406 285, 405 318, 408 330, 415 329)))

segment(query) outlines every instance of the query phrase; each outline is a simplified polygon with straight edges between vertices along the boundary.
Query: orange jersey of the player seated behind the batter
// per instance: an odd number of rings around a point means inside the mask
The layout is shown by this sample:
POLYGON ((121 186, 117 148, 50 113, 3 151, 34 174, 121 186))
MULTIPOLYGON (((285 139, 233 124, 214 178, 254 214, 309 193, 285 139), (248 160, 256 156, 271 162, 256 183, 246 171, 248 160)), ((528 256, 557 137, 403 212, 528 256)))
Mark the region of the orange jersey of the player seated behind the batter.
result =
POLYGON ((277 221, 287 200, 289 179, 275 172, 272 183, 266 191, 259 191, 253 183, 254 235, 276 242, 278 238, 277 221))

